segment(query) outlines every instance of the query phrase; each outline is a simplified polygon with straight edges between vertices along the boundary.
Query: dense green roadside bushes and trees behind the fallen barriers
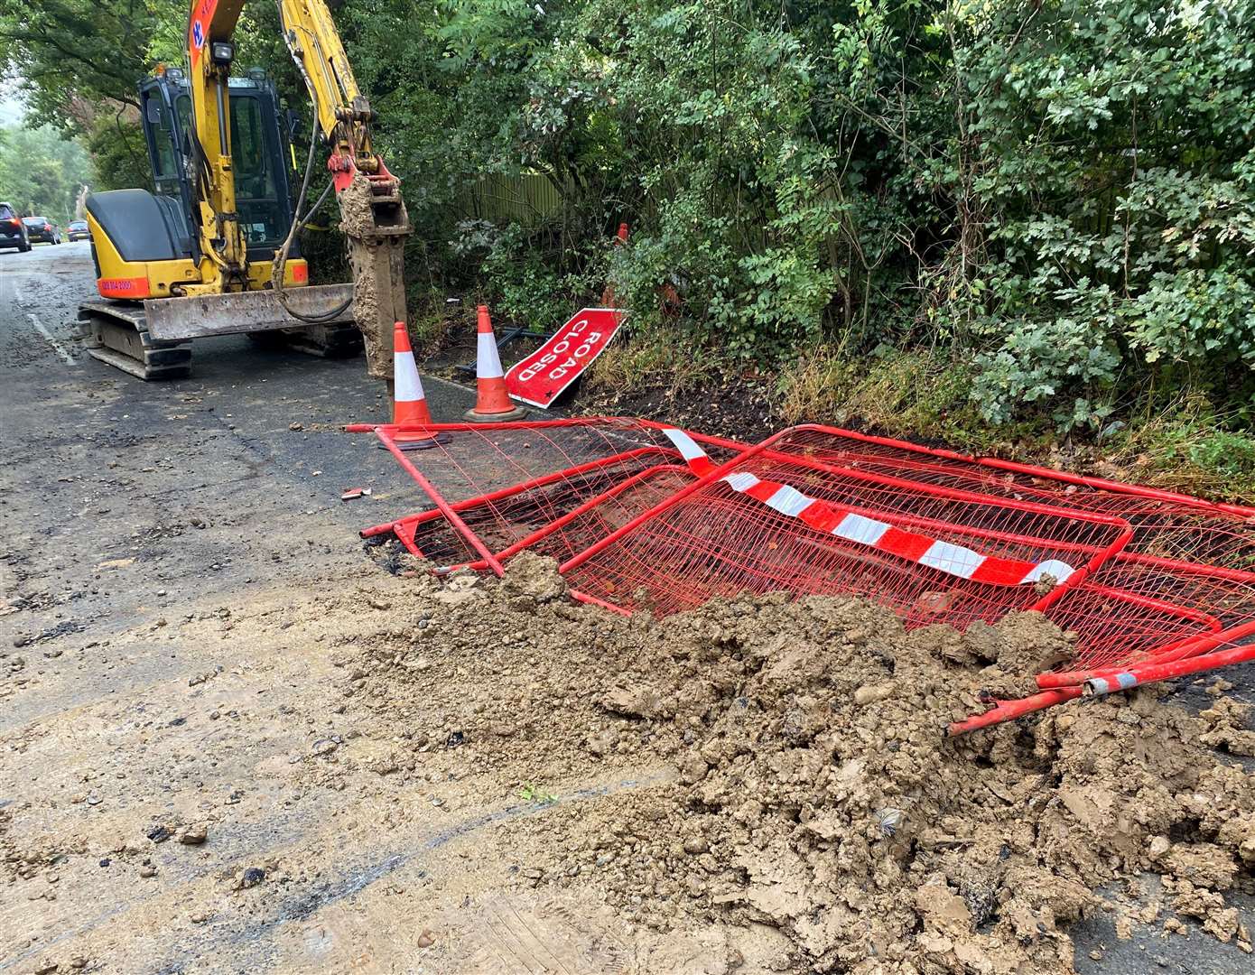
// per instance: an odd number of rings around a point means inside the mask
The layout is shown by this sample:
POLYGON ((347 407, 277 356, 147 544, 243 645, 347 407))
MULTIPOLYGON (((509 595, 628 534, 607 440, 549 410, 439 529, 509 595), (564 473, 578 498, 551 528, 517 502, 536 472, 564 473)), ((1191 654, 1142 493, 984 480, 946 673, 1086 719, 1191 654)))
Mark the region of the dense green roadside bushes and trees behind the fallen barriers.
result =
MULTIPOLYGON (((75 98, 123 104, 186 16, 0 10, 30 51, 9 65, 69 127, 75 98), (100 70, 33 69, 88 21, 129 25, 104 61, 88 49, 100 70)), ((250 15, 241 50, 302 105, 272 11, 250 15)), ((404 178, 418 291, 550 325, 609 274, 636 335, 611 384, 681 349, 684 375, 779 370, 786 415, 894 403, 969 442, 1112 444, 1167 410, 1191 438, 1219 429, 1190 463, 1255 469, 1235 461, 1255 407, 1255 0, 344 0, 335 18, 404 178), (550 191, 503 208, 486 177, 550 191), (620 221, 631 245, 611 248, 620 221)))

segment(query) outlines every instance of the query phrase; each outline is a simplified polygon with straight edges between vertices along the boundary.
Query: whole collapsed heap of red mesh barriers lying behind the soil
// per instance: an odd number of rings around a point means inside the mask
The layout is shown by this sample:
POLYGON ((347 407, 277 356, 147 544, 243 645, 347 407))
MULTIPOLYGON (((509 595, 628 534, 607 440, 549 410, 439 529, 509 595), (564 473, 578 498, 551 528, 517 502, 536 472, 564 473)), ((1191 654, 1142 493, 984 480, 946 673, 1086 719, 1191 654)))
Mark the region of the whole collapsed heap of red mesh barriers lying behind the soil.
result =
POLYGON ((826 427, 744 444, 646 420, 443 424, 380 439, 435 506, 369 528, 442 570, 553 556, 577 599, 664 616, 846 594, 907 626, 1039 610, 1076 634, 1043 693, 954 730, 1255 658, 1255 509, 826 427), (414 435, 408 433, 408 435, 414 435))

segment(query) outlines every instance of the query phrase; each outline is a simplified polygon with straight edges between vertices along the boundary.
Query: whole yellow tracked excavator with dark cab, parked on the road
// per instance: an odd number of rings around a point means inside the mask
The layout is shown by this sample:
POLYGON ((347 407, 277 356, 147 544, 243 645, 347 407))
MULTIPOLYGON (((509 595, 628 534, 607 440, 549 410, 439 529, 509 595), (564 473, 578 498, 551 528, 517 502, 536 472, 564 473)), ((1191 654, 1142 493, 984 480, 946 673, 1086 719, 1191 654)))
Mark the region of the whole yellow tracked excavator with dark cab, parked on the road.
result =
POLYGON ((231 74, 243 3, 193 0, 184 65, 139 84, 153 189, 87 200, 100 295, 79 307, 88 350, 142 379, 166 379, 187 375, 190 343, 207 335, 282 335, 319 355, 355 351, 364 340, 370 375, 390 379, 410 228, 399 181, 371 146, 370 103, 324 0, 279 0, 315 117, 294 205, 295 125, 281 124, 262 72, 231 74), (330 182, 306 206, 315 133, 330 149, 330 182), (354 281, 311 286, 296 231, 333 189, 354 281))

